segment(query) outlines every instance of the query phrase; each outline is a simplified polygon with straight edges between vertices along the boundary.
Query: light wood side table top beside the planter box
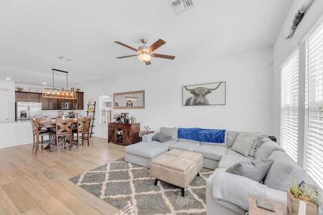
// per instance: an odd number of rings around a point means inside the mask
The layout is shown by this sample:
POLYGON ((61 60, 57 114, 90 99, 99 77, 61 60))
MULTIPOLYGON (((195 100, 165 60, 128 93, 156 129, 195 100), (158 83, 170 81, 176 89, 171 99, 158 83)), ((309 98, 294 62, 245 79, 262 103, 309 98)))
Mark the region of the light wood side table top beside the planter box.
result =
POLYGON ((265 198, 254 194, 249 194, 249 215, 290 215, 290 212, 287 209, 287 204, 281 201, 276 201, 271 198, 265 198), (271 210, 266 210, 257 206, 256 199, 262 199, 265 201, 272 202, 275 208, 275 212, 271 210))

